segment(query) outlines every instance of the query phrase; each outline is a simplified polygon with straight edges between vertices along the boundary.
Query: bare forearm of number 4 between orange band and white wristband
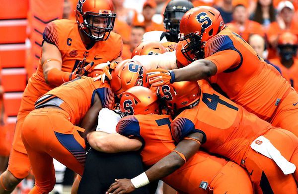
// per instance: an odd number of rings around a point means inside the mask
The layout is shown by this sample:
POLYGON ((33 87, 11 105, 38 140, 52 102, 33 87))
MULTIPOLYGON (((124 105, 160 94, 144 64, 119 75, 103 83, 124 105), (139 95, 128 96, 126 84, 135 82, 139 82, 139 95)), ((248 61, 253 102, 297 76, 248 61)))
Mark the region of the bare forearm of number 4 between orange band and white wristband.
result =
POLYGON ((149 168, 146 174, 152 183, 170 175, 184 164, 185 161, 178 154, 172 152, 149 168))

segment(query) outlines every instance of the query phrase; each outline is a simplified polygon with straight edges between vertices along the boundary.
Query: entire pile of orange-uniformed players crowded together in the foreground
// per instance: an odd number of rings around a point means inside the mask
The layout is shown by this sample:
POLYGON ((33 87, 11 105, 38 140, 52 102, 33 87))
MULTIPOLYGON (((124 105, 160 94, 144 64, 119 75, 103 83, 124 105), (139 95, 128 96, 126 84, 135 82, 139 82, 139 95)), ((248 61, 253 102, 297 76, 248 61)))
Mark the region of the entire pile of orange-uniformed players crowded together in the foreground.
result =
MULTIPOLYGON (((115 14, 109 1, 98 1, 103 11, 88 14, 84 9, 92 3, 78 2, 77 24, 47 26, 41 64, 18 115, 15 138, 25 151, 15 143, 9 173, 23 178, 24 171, 11 165, 22 159, 35 176, 31 192, 49 193, 53 158, 82 175, 88 142, 106 153, 139 151, 148 168, 133 179, 115 177, 112 194, 156 180, 188 194, 297 193, 298 93, 225 26, 218 10, 169 3, 185 13, 178 44, 143 42, 132 59, 116 63, 121 40, 110 32, 115 14), (79 33, 95 41, 76 41, 79 33), (93 67, 81 56, 100 64, 93 67), (104 123, 98 120, 102 110, 118 108, 124 117, 114 120, 117 133, 94 131, 104 123)), ((0 183, 9 192, 5 176, 0 183)))

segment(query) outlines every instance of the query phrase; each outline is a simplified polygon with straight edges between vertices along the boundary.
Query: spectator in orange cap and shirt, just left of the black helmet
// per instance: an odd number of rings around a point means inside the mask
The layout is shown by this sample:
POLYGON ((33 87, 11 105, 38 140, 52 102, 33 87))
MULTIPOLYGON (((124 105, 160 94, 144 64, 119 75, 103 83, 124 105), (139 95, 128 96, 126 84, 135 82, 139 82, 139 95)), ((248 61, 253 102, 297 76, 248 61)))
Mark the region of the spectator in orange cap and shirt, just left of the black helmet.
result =
POLYGON ((139 17, 134 21, 134 25, 141 25, 145 27, 146 32, 159 30, 165 31, 163 24, 155 23, 152 17, 155 14, 156 2, 154 0, 146 0, 143 5, 144 20, 140 21, 139 17))

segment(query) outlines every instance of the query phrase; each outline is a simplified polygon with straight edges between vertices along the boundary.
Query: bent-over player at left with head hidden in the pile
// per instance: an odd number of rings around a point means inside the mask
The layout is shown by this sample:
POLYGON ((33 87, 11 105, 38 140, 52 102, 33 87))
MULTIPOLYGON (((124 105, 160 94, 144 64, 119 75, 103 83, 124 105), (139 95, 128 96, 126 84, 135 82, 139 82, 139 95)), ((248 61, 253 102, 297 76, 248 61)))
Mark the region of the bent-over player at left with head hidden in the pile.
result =
POLYGON ((37 99, 21 131, 35 176, 32 193, 45 194, 54 188, 53 158, 82 175, 86 158, 84 137, 96 127, 99 111, 114 105, 110 86, 85 76, 37 99))

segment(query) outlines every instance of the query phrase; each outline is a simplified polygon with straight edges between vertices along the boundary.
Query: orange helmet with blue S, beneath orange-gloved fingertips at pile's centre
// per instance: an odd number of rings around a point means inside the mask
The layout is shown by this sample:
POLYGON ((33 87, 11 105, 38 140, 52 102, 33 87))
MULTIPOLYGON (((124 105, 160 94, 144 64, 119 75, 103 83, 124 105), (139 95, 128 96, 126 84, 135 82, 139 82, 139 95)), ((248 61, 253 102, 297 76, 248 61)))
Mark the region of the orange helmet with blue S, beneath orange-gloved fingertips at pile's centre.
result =
POLYGON ((146 69, 138 61, 127 59, 120 62, 112 71, 112 79, 110 80, 111 88, 117 97, 121 97, 122 93, 134 86, 145 86, 144 75, 146 69))

